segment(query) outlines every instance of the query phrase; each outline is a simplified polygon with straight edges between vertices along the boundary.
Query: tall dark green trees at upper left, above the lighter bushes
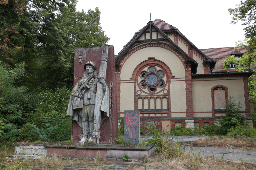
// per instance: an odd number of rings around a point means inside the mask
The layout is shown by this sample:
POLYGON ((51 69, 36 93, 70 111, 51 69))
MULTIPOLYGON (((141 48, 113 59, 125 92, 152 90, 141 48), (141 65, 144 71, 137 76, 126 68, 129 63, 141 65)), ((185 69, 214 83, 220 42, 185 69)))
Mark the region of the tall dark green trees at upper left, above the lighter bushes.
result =
POLYGON ((0 1, 1 60, 25 62, 19 85, 72 87, 74 47, 105 45, 100 11, 76 11, 76 0, 0 1), (70 80, 70 81, 66 81, 70 80))

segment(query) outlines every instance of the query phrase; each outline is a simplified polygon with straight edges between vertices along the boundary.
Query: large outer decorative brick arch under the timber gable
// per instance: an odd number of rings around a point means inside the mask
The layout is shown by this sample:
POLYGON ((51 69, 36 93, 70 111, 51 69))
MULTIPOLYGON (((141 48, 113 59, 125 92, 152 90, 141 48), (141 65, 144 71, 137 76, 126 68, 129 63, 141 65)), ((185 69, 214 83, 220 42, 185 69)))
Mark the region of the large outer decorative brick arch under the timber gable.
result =
POLYGON ((182 64, 184 65, 185 67, 185 58, 173 47, 169 46, 169 45, 165 45, 165 44, 161 44, 161 43, 151 43, 151 44, 143 44, 143 45, 140 45, 140 46, 137 46, 135 47, 134 49, 132 49, 129 53, 127 53, 123 59, 120 61, 120 72, 121 72, 121 69, 125 63, 125 61, 133 54, 135 53, 136 51, 139 51, 140 49, 143 49, 143 48, 148 48, 148 47, 160 47, 160 48, 164 48, 164 49, 167 49, 169 51, 171 51, 172 53, 174 53, 179 59, 180 61, 182 62, 182 64))

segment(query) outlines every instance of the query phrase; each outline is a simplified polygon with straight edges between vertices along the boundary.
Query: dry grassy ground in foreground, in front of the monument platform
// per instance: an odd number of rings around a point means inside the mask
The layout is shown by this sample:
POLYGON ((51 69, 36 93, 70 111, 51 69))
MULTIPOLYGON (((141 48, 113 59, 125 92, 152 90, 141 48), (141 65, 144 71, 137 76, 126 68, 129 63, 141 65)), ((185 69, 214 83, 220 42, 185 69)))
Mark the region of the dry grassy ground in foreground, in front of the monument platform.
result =
MULTIPOLYGON (((58 158, 53 161, 50 159, 47 161, 41 161, 39 159, 7 159, 2 162, 1 169, 6 169, 4 165, 18 165, 22 162, 23 168, 44 170, 44 169, 254 169, 256 170, 256 164, 246 163, 246 162, 235 162, 228 160, 219 160, 213 158, 204 158, 203 163, 194 165, 187 163, 186 160, 165 160, 161 159, 154 161, 159 157, 157 155, 153 156, 151 159, 145 161, 133 161, 133 162, 123 162, 120 160, 100 160, 96 166, 94 159, 78 159, 70 160, 58 158)), ((12 168, 9 168, 12 169, 12 168)), ((16 168, 13 168, 16 169, 16 168)), ((21 168, 19 168, 21 169, 21 168)))

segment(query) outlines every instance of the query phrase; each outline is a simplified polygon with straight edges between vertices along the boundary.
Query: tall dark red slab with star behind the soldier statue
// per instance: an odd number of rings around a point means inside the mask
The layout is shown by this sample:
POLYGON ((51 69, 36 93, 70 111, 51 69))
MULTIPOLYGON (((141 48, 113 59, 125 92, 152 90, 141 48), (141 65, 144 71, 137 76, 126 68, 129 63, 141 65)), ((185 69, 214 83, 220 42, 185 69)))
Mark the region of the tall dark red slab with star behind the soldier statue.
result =
MULTIPOLYGON (((99 72, 101 54, 106 47, 108 48, 108 61, 107 61, 107 72, 106 82, 110 90, 110 115, 109 119, 104 120, 100 126, 100 143, 110 144, 115 141, 118 132, 117 126, 117 105, 116 105, 116 77, 115 77, 115 56, 114 46, 94 46, 94 47, 80 47, 75 48, 75 59, 74 59, 74 85, 83 76, 84 65, 88 61, 94 62, 97 71, 99 72)), ((77 124, 76 121, 72 122, 72 141, 77 143, 81 140, 82 128, 77 124)))

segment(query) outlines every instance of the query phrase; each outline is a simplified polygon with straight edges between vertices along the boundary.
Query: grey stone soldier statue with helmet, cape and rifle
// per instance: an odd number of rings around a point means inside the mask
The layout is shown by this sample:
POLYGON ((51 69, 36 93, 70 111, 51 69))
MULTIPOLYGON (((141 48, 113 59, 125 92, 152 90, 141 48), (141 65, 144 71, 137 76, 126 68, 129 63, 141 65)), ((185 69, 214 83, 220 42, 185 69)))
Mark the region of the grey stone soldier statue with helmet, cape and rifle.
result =
MULTIPOLYGON (((105 56, 102 54, 102 58, 105 56)), ((107 59, 104 61, 107 62, 107 59)), ((84 65, 85 72, 74 86, 69 99, 67 115, 73 116, 72 119, 82 128, 82 139, 78 142, 81 144, 86 141, 99 143, 100 125, 109 118, 109 89, 105 73, 101 73, 106 70, 101 68, 106 67, 106 64, 102 66, 104 61, 101 61, 100 77, 93 62, 88 61, 84 65)))

